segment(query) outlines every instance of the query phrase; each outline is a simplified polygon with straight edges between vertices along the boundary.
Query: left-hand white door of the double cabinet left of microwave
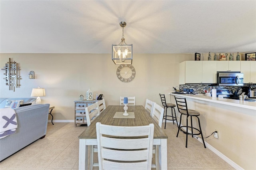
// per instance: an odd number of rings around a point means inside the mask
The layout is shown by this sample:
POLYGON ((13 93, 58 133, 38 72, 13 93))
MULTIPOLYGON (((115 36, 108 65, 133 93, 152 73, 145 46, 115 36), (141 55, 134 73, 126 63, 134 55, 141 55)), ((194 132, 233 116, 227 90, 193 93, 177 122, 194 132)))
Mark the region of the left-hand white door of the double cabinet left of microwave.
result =
POLYGON ((186 61, 185 83, 202 83, 202 61, 186 61))

